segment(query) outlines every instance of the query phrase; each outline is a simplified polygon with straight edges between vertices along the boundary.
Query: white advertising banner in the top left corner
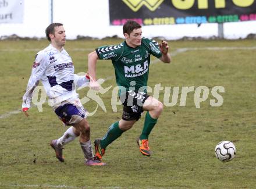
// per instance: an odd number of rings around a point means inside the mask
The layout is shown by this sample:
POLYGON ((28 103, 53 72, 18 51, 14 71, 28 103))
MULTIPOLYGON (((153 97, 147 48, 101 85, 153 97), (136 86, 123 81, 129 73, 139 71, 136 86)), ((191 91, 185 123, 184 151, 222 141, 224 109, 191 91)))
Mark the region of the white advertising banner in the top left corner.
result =
POLYGON ((23 23, 24 0, 0 0, 0 24, 23 23))

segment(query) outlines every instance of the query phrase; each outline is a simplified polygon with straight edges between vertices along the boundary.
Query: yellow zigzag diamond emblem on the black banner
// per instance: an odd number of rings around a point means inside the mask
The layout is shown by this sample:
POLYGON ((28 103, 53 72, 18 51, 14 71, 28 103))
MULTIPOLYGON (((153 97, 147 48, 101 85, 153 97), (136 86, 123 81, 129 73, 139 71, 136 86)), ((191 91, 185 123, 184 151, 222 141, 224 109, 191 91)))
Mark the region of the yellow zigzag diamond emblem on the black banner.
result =
POLYGON ((164 0, 122 0, 134 12, 137 12, 141 6, 145 5, 151 11, 158 8, 164 0))

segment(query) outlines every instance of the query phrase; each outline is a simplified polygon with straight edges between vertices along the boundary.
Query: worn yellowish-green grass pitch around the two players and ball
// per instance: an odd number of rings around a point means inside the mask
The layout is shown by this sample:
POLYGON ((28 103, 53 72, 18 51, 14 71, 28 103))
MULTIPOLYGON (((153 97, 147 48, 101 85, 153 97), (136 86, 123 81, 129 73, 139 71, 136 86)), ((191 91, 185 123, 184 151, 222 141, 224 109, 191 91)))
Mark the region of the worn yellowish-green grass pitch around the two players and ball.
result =
MULTIPOLYGON (((89 52, 121 41, 67 41, 65 48, 79 73, 87 71, 89 52)), ((255 188, 255 40, 169 41, 172 63, 152 58, 148 85, 180 90, 177 104, 165 105, 152 130, 149 139, 154 154, 150 158, 141 155, 136 144, 144 114, 106 149, 105 167, 84 166, 77 139, 65 146, 65 163, 58 162, 49 142, 61 137, 67 127, 47 103, 42 112, 31 108, 28 118, 18 111, 34 56, 47 45, 46 40, 0 42, 0 188, 255 188), (187 94, 186 105, 180 106, 182 87, 191 86, 209 88, 200 108, 195 107, 194 91, 187 94), (219 93, 223 98, 219 107, 210 104, 215 86, 225 88, 219 93), (215 145, 222 140, 236 145, 237 155, 230 162, 215 158, 215 145)), ((106 112, 99 106, 88 117, 92 141, 122 115, 121 105, 116 112, 111 106, 116 86, 111 61, 98 61, 97 76, 106 79, 104 88, 112 87, 99 94, 106 112)), ((80 98, 87 91, 79 90, 80 98)), ((162 102, 164 93, 159 94, 162 102)), ((172 92, 170 101, 171 97, 172 92)), ((90 100, 84 107, 92 112, 97 104, 90 100)))

